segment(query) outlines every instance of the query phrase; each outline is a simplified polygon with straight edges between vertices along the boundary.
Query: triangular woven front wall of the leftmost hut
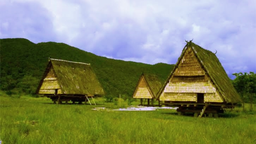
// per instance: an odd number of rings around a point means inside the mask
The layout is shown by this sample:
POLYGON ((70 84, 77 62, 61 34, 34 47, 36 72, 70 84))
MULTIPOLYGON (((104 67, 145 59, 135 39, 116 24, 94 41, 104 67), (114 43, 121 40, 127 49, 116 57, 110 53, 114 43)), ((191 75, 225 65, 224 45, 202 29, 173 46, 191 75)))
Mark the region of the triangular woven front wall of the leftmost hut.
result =
POLYGON ((58 94, 63 94, 53 68, 51 68, 39 89, 39 94, 55 94, 55 89, 58 89, 58 94))

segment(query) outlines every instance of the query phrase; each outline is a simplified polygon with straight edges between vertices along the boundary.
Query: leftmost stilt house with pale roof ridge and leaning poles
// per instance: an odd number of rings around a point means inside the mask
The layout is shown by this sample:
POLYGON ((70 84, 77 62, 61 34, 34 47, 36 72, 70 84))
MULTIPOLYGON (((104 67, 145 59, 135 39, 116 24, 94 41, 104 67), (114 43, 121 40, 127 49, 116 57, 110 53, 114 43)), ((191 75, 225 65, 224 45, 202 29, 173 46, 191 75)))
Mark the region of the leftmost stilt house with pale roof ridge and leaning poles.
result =
POLYGON ((103 95, 104 91, 90 64, 49 58, 36 93, 54 103, 81 103, 90 102, 88 97, 93 100, 93 96, 103 95))

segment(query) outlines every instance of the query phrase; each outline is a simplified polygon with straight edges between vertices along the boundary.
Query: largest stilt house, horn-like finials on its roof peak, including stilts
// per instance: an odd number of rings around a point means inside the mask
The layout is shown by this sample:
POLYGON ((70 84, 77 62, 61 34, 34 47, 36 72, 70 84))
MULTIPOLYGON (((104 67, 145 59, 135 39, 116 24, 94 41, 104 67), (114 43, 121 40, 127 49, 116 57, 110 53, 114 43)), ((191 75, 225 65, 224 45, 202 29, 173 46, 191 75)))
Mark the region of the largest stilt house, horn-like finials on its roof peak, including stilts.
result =
POLYGON ((191 41, 159 90, 158 99, 164 105, 178 106, 178 114, 194 112, 195 117, 217 117, 223 108, 241 102, 217 56, 191 41))

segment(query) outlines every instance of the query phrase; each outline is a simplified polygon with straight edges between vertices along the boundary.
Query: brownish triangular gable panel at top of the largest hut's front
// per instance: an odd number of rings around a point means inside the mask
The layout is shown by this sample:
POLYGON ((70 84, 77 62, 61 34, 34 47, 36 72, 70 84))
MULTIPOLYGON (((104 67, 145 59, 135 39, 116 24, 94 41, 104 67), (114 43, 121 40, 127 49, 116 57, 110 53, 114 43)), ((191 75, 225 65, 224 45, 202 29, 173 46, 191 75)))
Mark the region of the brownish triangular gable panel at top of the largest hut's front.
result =
POLYGON ((196 58, 193 50, 189 47, 173 73, 174 76, 202 76, 205 71, 196 58))

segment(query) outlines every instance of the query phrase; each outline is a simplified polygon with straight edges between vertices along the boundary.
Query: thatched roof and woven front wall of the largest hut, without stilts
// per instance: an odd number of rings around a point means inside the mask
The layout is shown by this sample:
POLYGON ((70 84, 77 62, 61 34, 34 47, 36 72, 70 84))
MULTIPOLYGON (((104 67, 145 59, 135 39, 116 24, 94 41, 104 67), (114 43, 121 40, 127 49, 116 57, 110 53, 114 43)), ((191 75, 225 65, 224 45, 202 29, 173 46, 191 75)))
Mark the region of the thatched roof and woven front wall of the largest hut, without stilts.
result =
MULTIPOLYGON (((158 99, 184 100, 182 97, 173 96, 175 93, 177 95, 205 93, 205 102, 237 103, 241 101, 217 56, 191 41, 184 47, 175 68, 160 89, 158 99), (165 93, 169 93, 168 96, 165 93)), ((196 99, 188 101, 196 101, 196 99)))

